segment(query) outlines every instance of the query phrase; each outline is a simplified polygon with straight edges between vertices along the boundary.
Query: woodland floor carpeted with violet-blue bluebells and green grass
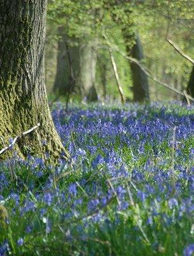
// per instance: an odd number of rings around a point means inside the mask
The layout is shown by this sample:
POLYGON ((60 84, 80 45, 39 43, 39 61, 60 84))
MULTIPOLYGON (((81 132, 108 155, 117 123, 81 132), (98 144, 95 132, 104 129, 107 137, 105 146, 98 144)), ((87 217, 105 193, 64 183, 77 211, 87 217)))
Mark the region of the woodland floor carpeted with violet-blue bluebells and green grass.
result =
POLYGON ((52 115, 71 162, 1 163, 0 255, 193 255, 193 107, 52 115))

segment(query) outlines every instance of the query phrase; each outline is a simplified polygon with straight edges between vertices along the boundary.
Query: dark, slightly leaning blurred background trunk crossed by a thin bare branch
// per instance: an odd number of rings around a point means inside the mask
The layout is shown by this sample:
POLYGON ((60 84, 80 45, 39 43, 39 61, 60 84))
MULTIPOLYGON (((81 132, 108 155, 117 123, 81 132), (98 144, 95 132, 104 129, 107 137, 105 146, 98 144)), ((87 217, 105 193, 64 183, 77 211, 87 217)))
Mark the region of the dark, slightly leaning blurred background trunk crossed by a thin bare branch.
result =
MULTIPOLYGON (((127 42, 128 38, 125 37, 125 41, 127 42)), ((135 44, 132 49, 126 44, 126 51, 128 56, 131 56, 138 61, 144 59, 143 49, 138 35, 135 36, 135 44)), ((136 63, 130 62, 130 67, 133 79, 133 101, 143 102, 144 100, 149 100, 149 88, 146 74, 136 63)))

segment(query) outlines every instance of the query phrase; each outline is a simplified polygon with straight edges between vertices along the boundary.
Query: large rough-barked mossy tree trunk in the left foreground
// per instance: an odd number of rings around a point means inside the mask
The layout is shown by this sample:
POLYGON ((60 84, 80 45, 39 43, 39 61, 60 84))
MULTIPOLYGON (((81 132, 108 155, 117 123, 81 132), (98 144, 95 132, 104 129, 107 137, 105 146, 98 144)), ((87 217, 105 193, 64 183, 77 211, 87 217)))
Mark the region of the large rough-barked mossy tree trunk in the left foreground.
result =
POLYGON ((40 123, 15 149, 22 157, 30 148, 31 154, 48 152, 54 159, 64 148, 50 116, 45 88, 46 7, 47 0, 0 2, 0 134, 7 145, 9 138, 40 123))

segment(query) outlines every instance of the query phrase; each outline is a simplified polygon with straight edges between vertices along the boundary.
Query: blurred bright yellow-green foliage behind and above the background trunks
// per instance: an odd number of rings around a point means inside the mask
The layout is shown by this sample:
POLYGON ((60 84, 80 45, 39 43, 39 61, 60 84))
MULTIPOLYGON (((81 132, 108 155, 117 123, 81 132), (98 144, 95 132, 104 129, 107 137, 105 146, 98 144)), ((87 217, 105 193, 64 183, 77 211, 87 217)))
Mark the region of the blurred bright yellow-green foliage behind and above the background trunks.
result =
MULTIPOLYGON (((107 95, 110 99, 118 98, 116 81, 108 58, 108 45, 103 38, 107 33, 112 47, 126 53, 126 44, 133 46, 134 33, 140 35, 144 48, 145 60, 143 63, 151 70, 154 76, 172 87, 177 87, 183 92, 188 84, 191 72, 191 63, 174 51, 165 38, 168 36, 180 49, 191 57, 193 51, 193 1, 121 1, 121 0, 50 0, 48 3, 49 28, 63 26, 65 33, 70 38, 77 38, 77 42, 94 41, 96 51, 101 63, 98 63, 96 76, 97 90, 102 92, 101 73, 102 63, 107 62, 107 95), (55 25, 54 25, 55 24, 55 25), (131 36, 124 42, 121 31, 131 36), (102 60, 104 58, 104 60, 102 60)), ((49 29, 48 29, 49 30, 49 29)), ((73 44, 75 41, 73 40, 73 44)), ((124 89, 124 95, 132 99, 130 87, 130 69, 128 61, 122 60, 114 52, 119 77, 124 89)), ((55 70, 55 65, 53 65, 55 70)), ((54 72, 48 79, 51 86, 54 72), (52 79, 52 81, 51 81, 52 79)), ((179 96, 169 92, 160 84, 149 81, 151 99, 180 99, 179 96)), ((102 95, 102 93, 99 93, 102 95)), ((75 96, 76 97, 76 96, 75 96)))

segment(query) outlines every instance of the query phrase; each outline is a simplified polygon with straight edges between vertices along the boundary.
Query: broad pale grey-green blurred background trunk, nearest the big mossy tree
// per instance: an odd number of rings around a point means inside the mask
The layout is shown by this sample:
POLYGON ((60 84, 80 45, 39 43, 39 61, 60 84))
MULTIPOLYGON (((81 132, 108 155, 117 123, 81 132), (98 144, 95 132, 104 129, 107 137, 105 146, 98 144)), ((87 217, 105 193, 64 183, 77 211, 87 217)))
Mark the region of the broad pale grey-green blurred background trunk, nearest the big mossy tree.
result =
POLYGON ((54 92, 68 96, 73 89, 88 101, 98 100, 96 79, 96 53, 91 42, 70 38, 59 28, 61 38, 58 43, 57 73, 54 92), (77 43, 76 46, 73 44, 77 43))

